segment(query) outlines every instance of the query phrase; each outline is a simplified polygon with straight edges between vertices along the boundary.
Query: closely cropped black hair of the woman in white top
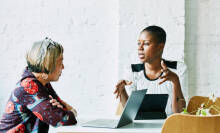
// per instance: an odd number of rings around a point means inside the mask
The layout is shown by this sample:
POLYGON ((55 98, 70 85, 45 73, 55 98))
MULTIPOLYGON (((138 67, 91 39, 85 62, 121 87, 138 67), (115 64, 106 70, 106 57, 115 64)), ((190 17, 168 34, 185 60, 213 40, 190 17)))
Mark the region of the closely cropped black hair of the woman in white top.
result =
POLYGON ((166 43, 166 32, 159 26, 148 26, 142 30, 142 32, 149 32, 156 39, 157 43, 166 43))

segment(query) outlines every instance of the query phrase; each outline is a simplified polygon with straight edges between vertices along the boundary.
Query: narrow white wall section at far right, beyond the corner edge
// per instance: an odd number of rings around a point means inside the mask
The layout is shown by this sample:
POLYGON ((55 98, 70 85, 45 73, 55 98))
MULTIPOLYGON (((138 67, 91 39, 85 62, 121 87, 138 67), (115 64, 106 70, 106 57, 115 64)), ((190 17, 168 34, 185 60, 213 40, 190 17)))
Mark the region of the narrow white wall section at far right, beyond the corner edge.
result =
POLYGON ((220 96, 220 1, 186 0, 189 94, 220 96))

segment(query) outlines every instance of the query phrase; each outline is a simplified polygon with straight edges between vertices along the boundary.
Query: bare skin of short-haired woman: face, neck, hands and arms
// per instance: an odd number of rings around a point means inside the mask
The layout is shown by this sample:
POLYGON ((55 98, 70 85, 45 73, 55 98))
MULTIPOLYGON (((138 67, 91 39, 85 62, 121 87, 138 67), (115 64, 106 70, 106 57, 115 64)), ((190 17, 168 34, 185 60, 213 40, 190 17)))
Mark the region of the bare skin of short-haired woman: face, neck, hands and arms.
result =
MULTIPOLYGON (((179 113, 185 107, 186 103, 182 94, 179 77, 176 73, 169 70, 162 61, 164 45, 164 43, 157 43, 157 40, 150 33, 146 31, 141 32, 138 40, 138 56, 140 61, 144 63, 146 75, 150 79, 156 79, 159 77, 159 84, 163 84, 166 81, 172 82, 172 110, 174 113, 179 113), (162 72, 164 74, 163 76, 160 76, 162 72)), ((116 98, 120 98, 123 107, 128 99, 125 86, 131 84, 131 81, 120 80, 116 85, 114 93, 116 94, 116 98)))

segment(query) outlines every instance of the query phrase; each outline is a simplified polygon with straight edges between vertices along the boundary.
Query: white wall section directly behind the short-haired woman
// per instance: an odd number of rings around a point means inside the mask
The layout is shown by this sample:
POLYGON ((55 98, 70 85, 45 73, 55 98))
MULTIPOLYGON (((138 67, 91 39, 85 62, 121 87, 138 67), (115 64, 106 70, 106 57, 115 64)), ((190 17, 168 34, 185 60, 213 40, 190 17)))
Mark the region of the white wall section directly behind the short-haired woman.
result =
MULTIPOLYGON (((184 62, 184 0, 119 0, 119 16, 119 78, 123 77, 125 66, 139 62, 137 40, 141 30, 149 25, 159 25, 167 33, 163 57, 184 62)), ((180 73, 186 68, 181 67, 180 73)), ((188 98, 187 71, 180 76, 180 81, 188 98)))

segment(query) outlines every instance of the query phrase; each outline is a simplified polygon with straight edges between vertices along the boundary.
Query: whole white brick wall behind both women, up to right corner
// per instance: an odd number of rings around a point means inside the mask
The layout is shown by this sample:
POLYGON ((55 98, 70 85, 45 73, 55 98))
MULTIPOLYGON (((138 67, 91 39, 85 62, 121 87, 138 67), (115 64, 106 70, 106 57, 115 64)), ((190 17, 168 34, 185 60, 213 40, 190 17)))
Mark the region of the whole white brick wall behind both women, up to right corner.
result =
POLYGON ((26 47, 49 36, 65 49, 65 69, 53 83, 60 97, 79 115, 114 114, 114 86, 121 66, 137 59, 141 29, 162 26, 164 56, 183 61, 184 13, 184 0, 0 0, 0 110, 24 69, 26 47))

